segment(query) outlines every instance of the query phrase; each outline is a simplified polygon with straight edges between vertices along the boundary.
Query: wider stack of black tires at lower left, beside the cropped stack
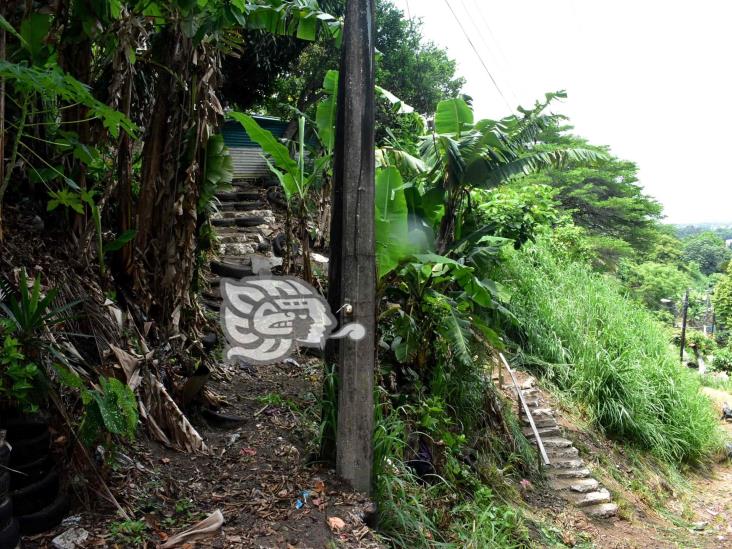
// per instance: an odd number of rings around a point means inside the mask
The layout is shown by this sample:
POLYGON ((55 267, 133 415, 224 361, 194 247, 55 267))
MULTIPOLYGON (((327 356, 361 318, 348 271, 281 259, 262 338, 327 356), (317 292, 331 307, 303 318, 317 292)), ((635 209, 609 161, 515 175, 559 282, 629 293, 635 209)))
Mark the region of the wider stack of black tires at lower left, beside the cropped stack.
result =
MULTIPOLYGON (((9 456, 12 514, 22 535, 46 532, 57 526, 69 509, 60 490, 59 474, 50 453, 48 424, 37 418, 18 417, 5 422, 9 456)), ((2 538, 0 538, 1 540, 2 538)), ((0 542, 0 548, 4 548, 0 542)))

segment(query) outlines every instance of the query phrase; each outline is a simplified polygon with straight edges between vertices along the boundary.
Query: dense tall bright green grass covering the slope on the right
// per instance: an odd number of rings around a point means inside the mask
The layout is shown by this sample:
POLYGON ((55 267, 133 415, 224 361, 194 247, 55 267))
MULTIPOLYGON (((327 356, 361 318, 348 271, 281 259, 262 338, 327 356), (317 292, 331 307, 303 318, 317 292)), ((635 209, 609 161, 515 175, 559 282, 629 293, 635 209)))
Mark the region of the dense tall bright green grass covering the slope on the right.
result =
POLYGON ((699 382, 681 368, 663 327, 610 277, 564 261, 546 242, 508 258, 527 366, 581 403, 604 432, 670 463, 699 462, 719 444, 699 382))

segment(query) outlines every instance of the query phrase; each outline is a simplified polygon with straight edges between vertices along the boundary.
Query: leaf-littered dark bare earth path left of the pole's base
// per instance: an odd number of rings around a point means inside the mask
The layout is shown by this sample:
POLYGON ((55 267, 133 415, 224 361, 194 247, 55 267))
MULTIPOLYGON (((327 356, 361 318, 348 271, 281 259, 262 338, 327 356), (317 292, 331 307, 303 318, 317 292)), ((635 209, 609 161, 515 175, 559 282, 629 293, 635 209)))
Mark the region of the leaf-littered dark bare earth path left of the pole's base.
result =
MULTIPOLYGON (((155 547, 216 509, 221 532, 184 547, 379 547, 364 524, 369 502, 323 465, 308 465, 311 420, 319 391, 316 368, 296 363, 226 366, 211 389, 228 403, 221 412, 243 419, 192 423, 211 450, 195 456, 141 440, 111 479, 112 491, 146 530, 143 540, 111 535, 119 517, 108 505, 80 512, 89 547, 155 547)), ((127 450, 124 450, 127 452, 127 450)), ((46 547, 57 531, 28 547, 46 547)))

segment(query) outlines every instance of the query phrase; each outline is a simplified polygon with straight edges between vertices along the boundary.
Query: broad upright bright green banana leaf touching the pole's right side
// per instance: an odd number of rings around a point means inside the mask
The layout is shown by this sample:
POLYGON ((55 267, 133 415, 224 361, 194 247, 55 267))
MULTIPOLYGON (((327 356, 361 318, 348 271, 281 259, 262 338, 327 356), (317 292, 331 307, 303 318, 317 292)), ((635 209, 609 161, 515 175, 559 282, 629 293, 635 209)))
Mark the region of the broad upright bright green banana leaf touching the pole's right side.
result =
POLYGON ((375 200, 376 263, 381 278, 409 255, 407 200, 399 170, 377 170, 375 200))

